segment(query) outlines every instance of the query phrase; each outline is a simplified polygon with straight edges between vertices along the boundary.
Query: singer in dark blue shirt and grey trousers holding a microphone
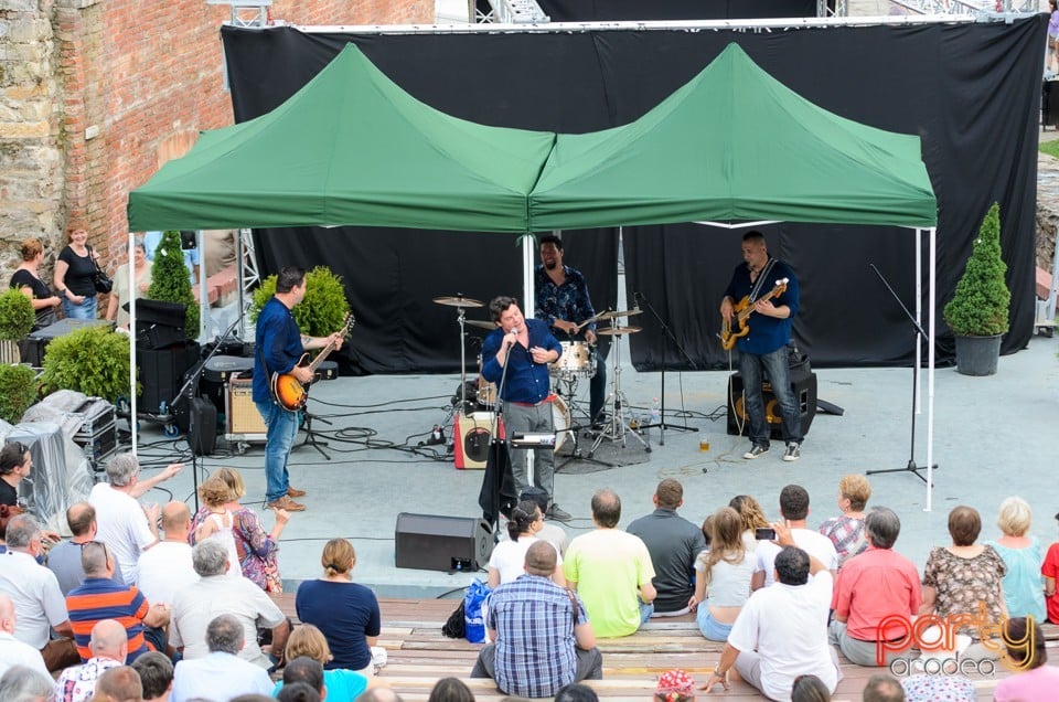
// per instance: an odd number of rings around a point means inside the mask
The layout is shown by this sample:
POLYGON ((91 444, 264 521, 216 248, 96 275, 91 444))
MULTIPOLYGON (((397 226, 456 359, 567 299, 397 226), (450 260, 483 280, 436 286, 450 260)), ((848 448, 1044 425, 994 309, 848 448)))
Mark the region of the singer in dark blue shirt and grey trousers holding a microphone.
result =
MULTIPOLYGON (((482 375, 500 389, 504 428, 509 440, 517 433, 555 432, 552 421, 552 394, 548 363, 559 359, 563 347, 548 326, 525 319, 513 297, 500 296, 489 304, 496 325, 482 344, 482 375)), ((509 446, 509 450, 511 447, 509 446)), ((511 450, 511 472, 518 494, 530 487, 526 451, 511 450)), ((570 515, 555 503, 555 458, 552 450, 539 450, 534 458, 533 483, 548 493, 545 517, 569 521, 570 515)))

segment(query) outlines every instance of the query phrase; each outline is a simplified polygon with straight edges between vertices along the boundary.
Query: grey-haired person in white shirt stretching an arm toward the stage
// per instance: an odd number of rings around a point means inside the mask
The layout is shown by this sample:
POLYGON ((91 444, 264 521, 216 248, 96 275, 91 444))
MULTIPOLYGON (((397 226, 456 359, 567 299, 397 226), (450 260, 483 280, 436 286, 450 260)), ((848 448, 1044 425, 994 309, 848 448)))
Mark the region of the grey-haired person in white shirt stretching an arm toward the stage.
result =
POLYGON ((122 583, 136 582, 140 554, 158 543, 158 506, 143 507, 137 499, 183 467, 183 464, 172 464, 153 478, 141 481, 136 456, 118 454, 107 462, 109 485, 99 482, 88 493, 88 502, 96 509, 96 540, 114 550, 122 583))

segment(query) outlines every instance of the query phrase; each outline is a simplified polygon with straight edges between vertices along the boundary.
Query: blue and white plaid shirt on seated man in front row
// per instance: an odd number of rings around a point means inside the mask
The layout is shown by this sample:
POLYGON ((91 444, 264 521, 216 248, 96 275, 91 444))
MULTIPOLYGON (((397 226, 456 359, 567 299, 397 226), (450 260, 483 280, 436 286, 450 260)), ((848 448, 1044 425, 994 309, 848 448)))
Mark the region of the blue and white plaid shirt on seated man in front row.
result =
MULTIPOLYGON (((567 591, 541 575, 520 575, 493 592, 489 628, 496 631, 496 687, 504 694, 552 698, 574 682, 574 605, 567 591)), ((580 597, 577 623, 588 621, 580 597)))

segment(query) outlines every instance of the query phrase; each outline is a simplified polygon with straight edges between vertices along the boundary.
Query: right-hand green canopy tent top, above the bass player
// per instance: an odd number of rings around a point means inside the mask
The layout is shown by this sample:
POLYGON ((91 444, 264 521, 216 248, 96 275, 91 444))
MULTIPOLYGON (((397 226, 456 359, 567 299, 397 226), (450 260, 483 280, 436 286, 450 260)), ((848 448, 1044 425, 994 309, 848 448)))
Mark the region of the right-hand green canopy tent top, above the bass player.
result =
POLYGON ((640 119, 558 135, 534 230, 775 220, 934 226, 919 137, 834 115, 729 44, 640 119))

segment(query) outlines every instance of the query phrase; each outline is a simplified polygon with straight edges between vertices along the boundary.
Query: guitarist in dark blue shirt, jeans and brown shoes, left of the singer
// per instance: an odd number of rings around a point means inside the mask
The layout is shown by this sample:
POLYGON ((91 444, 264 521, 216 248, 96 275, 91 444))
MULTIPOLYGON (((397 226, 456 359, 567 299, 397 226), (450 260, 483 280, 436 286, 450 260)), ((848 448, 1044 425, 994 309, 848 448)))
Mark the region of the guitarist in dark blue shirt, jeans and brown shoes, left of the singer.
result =
POLYGON ((287 461, 298 436, 298 413, 284 408, 274 397, 270 379, 274 373, 289 373, 302 384, 312 381, 312 371, 298 365, 301 355, 311 349, 334 344, 342 348, 343 332, 330 337, 308 337, 301 333, 291 309, 306 297, 306 270, 286 266, 276 276, 276 295, 261 308, 257 317, 257 345, 254 351, 254 404, 267 427, 265 438, 265 507, 302 512, 306 506, 291 498, 302 497, 304 490, 290 486, 287 461))

